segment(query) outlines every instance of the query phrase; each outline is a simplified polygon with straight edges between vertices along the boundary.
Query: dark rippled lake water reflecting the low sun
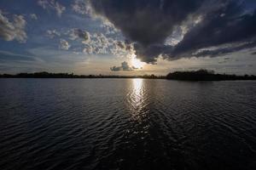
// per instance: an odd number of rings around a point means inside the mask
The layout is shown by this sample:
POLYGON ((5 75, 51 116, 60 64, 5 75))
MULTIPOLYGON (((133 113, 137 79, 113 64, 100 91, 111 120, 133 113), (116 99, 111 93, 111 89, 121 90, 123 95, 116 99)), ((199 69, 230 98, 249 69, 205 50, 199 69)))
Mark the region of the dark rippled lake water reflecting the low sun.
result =
POLYGON ((256 169, 256 82, 0 79, 0 169, 256 169))

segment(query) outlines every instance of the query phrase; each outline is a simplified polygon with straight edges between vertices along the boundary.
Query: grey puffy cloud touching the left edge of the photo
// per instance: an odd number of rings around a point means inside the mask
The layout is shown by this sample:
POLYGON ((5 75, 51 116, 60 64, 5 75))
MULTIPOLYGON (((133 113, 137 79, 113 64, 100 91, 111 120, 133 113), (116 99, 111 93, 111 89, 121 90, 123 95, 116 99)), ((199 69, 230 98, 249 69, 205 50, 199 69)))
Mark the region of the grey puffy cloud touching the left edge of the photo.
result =
POLYGON ((5 41, 26 42, 26 20, 22 15, 13 15, 13 20, 9 20, 0 10, 0 37, 5 41))

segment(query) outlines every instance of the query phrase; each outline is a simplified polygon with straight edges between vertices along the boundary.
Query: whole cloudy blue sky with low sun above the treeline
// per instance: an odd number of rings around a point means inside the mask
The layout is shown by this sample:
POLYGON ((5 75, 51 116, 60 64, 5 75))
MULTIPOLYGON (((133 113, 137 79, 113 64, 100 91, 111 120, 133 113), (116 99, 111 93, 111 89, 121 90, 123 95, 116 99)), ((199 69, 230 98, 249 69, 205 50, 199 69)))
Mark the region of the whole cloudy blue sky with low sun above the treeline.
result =
POLYGON ((0 73, 256 74, 255 0, 0 0, 0 73))

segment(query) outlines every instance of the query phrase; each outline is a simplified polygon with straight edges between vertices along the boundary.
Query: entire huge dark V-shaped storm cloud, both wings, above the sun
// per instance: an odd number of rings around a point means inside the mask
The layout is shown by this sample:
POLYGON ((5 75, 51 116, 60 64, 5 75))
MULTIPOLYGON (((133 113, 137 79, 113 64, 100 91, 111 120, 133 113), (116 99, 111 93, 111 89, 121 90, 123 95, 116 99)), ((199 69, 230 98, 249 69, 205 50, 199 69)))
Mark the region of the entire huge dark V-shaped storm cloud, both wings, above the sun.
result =
POLYGON ((166 59, 193 54, 216 56, 255 46, 252 39, 256 36, 256 12, 248 11, 247 1, 90 0, 90 5, 96 14, 106 17, 129 41, 135 42, 137 57, 148 63, 154 63, 160 54, 166 59), (177 45, 166 45, 166 38, 177 26, 188 20, 196 22, 193 16, 201 16, 201 20, 186 28, 177 45), (201 48, 236 42, 241 47, 198 52, 201 48))

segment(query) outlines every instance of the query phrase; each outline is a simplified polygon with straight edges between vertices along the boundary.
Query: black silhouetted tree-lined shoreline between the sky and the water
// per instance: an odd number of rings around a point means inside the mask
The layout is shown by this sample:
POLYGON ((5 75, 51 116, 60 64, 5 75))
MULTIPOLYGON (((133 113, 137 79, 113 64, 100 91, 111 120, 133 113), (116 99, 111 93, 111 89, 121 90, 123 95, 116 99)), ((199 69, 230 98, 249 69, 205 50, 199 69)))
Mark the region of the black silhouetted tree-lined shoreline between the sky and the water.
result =
POLYGON ((179 81, 229 81, 229 80, 256 80, 256 76, 215 74, 213 71, 175 71, 166 76, 143 75, 143 76, 108 76, 108 75, 74 75, 73 73, 19 73, 15 75, 0 74, 0 78, 145 78, 145 79, 168 79, 179 81))

